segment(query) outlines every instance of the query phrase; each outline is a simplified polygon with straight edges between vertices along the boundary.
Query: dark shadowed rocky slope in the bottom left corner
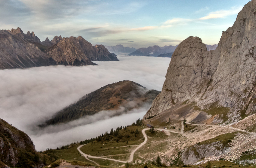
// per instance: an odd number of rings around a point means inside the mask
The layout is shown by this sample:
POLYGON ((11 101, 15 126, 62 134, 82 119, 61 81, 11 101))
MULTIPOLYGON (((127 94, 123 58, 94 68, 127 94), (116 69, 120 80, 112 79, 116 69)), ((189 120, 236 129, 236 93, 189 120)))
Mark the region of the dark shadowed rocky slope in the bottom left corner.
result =
POLYGON ((27 134, 0 119, 0 167, 42 167, 42 158, 27 134))

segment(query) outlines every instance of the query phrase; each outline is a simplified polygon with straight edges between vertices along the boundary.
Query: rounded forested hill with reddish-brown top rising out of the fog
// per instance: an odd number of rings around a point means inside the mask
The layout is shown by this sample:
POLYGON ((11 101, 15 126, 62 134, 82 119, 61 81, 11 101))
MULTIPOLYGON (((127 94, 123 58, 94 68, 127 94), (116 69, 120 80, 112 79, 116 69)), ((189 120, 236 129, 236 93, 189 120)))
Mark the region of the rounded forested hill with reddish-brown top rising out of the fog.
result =
POLYGON ((41 126, 69 122, 102 110, 119 110, 118 114, 122 114, 145 104, 151 104, 158 94, 159 91, 148 90, 133 81, 112 83, 82 97, 76 103, 56 113, 41 126))

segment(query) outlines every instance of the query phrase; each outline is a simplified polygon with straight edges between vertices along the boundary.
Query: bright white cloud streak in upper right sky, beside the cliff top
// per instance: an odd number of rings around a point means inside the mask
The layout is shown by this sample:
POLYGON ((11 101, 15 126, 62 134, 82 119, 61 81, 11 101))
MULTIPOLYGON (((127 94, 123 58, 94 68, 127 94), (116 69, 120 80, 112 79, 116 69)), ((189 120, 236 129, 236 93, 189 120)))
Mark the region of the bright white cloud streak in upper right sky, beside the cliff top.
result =
POLYGON ((230 10, 217 10, 209 13, 207 16, 199 18, 200 20, 224 18, 230 15, 237 15, 243 7, 232 7, 230 10))

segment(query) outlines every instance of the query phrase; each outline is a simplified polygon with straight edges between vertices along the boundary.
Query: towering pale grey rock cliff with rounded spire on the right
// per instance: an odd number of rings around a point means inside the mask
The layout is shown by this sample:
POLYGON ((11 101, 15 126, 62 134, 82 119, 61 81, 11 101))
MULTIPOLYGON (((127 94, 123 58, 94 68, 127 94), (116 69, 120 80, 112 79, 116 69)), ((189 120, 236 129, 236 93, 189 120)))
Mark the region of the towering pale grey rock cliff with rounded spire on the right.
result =
MULTIPOLYGON (((256 1, 246 4, 215 50, 189 37, 172 55, 161 93, 144 116, 154 116, 178 102, 200 109, 229 108, 230 121, 256 110, 256 1)), ((217 117, 217 116, 216 116, 217 117)))

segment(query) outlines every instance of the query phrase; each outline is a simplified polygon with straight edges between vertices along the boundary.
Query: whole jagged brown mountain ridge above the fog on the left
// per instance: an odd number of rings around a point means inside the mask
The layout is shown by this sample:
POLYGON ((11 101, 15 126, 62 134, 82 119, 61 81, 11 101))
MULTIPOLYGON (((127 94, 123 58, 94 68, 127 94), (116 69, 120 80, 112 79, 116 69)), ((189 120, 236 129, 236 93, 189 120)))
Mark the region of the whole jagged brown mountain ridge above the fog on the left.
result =
POLYGON ((102 45, 92 46, 79 36, 55 36, 45 41, 34 32, 20 28, 0 30, 0 69, 39 67, 47 65, 95 65, 92 61, 118 61, 117 55, 102 45))

